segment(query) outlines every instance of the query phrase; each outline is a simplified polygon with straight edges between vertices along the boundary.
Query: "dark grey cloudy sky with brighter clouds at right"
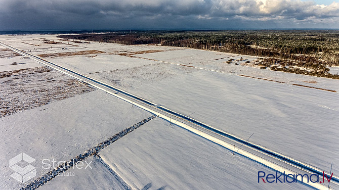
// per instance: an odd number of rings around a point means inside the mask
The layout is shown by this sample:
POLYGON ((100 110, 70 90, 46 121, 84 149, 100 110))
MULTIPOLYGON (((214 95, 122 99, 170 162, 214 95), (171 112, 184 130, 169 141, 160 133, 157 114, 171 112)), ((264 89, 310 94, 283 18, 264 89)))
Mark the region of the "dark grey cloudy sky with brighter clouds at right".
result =
POLYGON ((0 30, 339 28, 339 1, 0 0, 0 30))

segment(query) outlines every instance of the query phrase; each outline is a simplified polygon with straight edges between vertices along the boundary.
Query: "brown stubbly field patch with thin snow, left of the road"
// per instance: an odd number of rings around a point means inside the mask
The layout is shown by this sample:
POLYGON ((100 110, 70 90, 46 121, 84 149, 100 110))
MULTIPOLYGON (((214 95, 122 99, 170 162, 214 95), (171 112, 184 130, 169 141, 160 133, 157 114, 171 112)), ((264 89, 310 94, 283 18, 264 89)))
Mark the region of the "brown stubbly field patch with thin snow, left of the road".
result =
POLYGON ((7 75, 0 78, 0 117, 95 90, 48 67, 1 72, 0 75, 7 75))

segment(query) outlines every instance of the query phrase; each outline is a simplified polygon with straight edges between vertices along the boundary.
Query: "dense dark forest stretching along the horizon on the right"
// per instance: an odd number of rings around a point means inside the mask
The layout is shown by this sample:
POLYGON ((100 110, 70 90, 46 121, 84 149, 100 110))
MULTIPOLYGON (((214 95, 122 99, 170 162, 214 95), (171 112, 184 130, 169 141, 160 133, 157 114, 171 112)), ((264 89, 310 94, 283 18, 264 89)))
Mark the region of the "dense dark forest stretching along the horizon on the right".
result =
POLYGON ((160 43, 259 57, 339 65, 338 30, 136 31, 61 35, 67 39, 120 44, 160 43))

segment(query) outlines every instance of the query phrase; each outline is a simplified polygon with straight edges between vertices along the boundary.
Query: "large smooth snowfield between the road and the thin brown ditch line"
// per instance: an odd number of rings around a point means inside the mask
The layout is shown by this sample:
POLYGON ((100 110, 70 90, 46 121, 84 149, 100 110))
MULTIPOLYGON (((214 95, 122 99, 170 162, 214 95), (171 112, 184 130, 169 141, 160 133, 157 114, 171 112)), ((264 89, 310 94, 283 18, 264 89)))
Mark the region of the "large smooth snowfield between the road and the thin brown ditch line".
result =
MULTIPOLYGON (((157 72, 158 67, 149 65, 144 70, 157 72)), ((190 117, 242 139, 255 133, 252 143, 320 169, 338 161, 337 93, 194 68, 184 74, 177 66, 163 67, 173 76, 131 84, 126 90, 184 115, 194 113, 190 117)), ((108 83, 107 78, 120 82, 128 78, 103 75, 93 77, 108 83)))

